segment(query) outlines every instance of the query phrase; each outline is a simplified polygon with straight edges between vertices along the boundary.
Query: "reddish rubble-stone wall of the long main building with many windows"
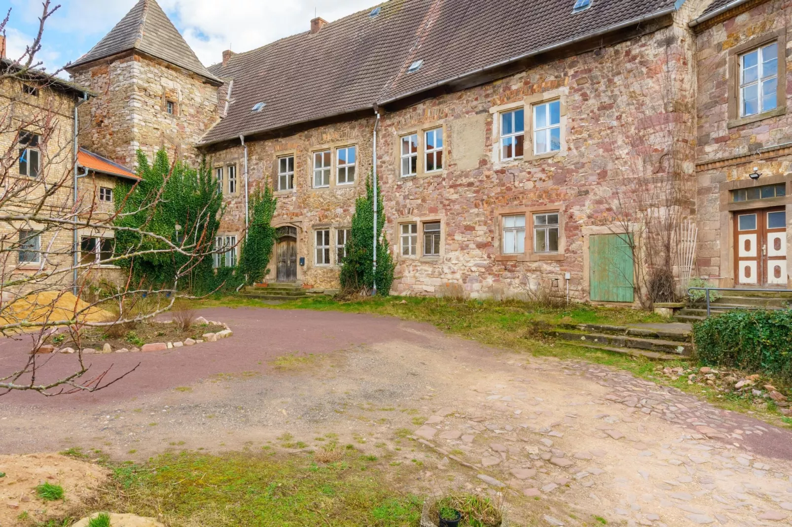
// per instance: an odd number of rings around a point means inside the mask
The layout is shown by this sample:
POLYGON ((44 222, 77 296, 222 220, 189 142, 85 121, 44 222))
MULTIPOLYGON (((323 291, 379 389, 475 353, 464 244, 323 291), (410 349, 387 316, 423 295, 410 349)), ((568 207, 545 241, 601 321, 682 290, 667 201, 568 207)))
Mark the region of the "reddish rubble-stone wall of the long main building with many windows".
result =
MULTIPOLYGON (((538 290, 588 298, 588 237, 620 232, 633 221, 635 195, 646 176, 666 170, 687 176, 691 185, 695 142, 691 55, 694 44, 683 21, 636 40, 559 59, 497 82, 385 112, 379 127, 378 171, 383 188, 386 237, 397 262, 393 290, 398 294, 444 294, 461 288, 474 298, 520 295, 538 290), (562 150, 500 161, 498 112, 525 109, 531 135, 531 104, 562 100, 562 150), (445 166, 421 168, 416 176, 399 173, 399 137, 440 127, 445 166), (669 165, 664 157, 679 162, 669 165), (669 168, 672 167, 672 168, 669 168), (562 236, 558 254, 533 253, 530 224, 527 251, 505 255, 501 217, 558 211, 562 236), (405 257, 399 226, 440 221, 442 240, 436 257, 405 257), (454 284, 454 285, 451 285, 454 284)), ((275 226, 299 226, 299 256, 306 266, 299 279, 310 286, 336 287, 337 266, 313 264, 317 227, 348 226, 354 198, 370 169, 373 119, 328 125, 289 138, 249 142, 251 184, 272 181, 276 157, 296 154, 295 192, 279 193, 275 226), (310 188, 310 152, 326 146, 356 144, 358 180, 353 188, 310 188)), ((215 164, 241 163, 241 147, 214 154, 215 164)), ((422 157, 422 156, 419 156, 422 157)), ((242 170, 240 169, 240 174, 242 170)), ((335 171, 333 171, 333 180, 335 171)), ((242 190, 242 187, 241 187, 242 190)), ((692 193, 692 190, 691 190, 692 193)), ((223 231, 241 232, 242 196, 229 199, 223 231)), ((419 232, 419 244, 421 233, 419 232)), ((270 267, 274 271, 273 258, 270 267)), ((273 279, 271 273, 268 277, 273 279)))

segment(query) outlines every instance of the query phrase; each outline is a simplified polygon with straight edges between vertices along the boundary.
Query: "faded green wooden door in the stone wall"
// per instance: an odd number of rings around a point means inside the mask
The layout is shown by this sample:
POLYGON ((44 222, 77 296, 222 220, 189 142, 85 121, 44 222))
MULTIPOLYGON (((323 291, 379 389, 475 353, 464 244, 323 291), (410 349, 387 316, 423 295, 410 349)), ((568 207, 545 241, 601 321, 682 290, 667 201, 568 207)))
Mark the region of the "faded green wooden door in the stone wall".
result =
POLYGON ((588 283, 592 301, 633 301, 632 240, 632 234, 588 237, 588 283))

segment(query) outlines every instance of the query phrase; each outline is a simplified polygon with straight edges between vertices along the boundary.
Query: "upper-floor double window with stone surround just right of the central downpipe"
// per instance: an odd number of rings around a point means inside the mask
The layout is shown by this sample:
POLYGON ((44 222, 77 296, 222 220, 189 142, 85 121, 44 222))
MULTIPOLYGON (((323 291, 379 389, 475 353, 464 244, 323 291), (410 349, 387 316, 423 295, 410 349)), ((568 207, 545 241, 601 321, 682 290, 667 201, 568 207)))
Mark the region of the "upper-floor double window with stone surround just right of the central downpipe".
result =
POLYGON ((400 179, 445 173, 448 159, 445 123, 422 123, 420 127, 398 131, 396 136, 399 154, 396 173, 400 179))

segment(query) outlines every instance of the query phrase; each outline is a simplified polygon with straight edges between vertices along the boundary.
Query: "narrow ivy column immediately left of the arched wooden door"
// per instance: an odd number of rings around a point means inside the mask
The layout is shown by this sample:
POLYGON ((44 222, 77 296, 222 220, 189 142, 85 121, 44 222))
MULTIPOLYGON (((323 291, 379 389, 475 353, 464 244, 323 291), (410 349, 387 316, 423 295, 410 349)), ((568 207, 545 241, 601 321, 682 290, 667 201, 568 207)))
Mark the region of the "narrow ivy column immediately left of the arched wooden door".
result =
POLYGON ((261 282, 267 274, 272 245, 275 244, 275 229, 271 223, 276 204, 277 199, 272 196, 269 185, 264 191, 256 188, 250 196, 250 224, 239 258, 239 272, 247 283, 261 282))

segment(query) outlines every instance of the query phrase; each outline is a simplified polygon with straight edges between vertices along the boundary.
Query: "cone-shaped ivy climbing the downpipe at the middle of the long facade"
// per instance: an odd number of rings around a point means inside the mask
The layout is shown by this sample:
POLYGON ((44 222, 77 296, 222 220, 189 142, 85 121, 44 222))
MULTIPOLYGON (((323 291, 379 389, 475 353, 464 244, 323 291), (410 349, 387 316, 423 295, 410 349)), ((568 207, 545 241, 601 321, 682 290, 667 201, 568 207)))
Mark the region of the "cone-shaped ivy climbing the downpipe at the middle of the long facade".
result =
POLYGON ((377 272, 373 271, 374 256, 374 187, 371 174, 366 178, 366 195, 355 202, 352 214, 352 233, 346 245, 347 256, 341 267, 341 288, 346 291, 365 292, 371 290, 376 278, 377 293, 386 296, 394 281, 394 263, 390 248, 383 236, 385 214, 382 192, 377 188, 377 272))

